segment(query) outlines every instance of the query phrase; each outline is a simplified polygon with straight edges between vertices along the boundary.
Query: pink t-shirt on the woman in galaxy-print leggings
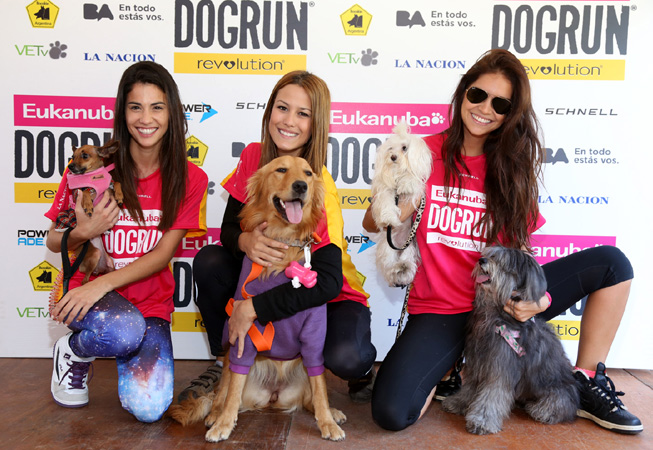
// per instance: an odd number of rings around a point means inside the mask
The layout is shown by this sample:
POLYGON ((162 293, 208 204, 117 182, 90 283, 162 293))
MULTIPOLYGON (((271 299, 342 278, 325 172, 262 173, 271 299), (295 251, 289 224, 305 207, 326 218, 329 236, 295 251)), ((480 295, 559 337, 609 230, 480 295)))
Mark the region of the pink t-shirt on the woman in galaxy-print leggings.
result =
MULTIPOLYGON (((45 214, 50 220, 56 220, 69 193, 67 186, 68 171, 59 184, 52 207, 45 214)), ((186 199, 182 202, 172 230, 187 229, 187 237, 201 236, 206 233, 206 188, 208 177, 202 169, 188 162, 188 181, 186 199)), ((102 243, 114 266, 120 269, 151 251, 159 242, 163 233, 157 229, 161 220, 161 172, 138 180, 137 195, 145 225, 141 226, 131 217, 127 209, 120 211, 118 223, 101 236, 102 243)), ((70 289, 78 287, 84 277, 77 271, 70 280, 70 289)), ((91 277, 93 279, 93 277, 91 277)), ((150 275, 147 278, 116 289, 120 295, 132 302, 144 317, 159 317, 170 321, 174 310, 172 296, 175 280, 170 267, 150 275)))

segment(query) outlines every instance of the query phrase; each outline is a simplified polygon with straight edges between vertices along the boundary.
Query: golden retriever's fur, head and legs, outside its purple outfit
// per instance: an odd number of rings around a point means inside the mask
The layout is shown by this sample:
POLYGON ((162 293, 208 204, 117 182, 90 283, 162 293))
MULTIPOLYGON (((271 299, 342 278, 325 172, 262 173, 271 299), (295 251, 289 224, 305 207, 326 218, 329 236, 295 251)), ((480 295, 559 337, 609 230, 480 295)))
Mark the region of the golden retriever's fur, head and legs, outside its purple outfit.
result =
MULTIPOLYGON (((267 222, 264 234, 269 238, 287 243, 308 241, 322 220, 323 204, 324 184, 306 160, 282 156, 250 178, 247 202, 241 212, 241 227, 244 231, 251 231, 267 222)), ((263 268, 258 279, 265 280, 279 274, 292 261, 303 257, 302 248, 290 246, 285 259, 263 268)), ((323 317, 326 320, 326 316, 323 317)), ((275 324, 281 325, 281 322, 275 324)), ((320 357, 323 347, 322 337, 320 357)), ((345 433, 338 424, 344 423, 347 418, 341 411, 329 407, 324 373, 309 376, 301 357, 281 361, 259 354, 247 375, 228 370, 229 366, 227 351, 225 368, 216 392, 173 405, 169 415, 182 425, 206 417, 205 424, 210 427, 206 440, 218 442, 229 438, 240 411, 273 407, 290 412, 304 406, 315 414, 322 438, 334 441, 344 439, 345 433)))

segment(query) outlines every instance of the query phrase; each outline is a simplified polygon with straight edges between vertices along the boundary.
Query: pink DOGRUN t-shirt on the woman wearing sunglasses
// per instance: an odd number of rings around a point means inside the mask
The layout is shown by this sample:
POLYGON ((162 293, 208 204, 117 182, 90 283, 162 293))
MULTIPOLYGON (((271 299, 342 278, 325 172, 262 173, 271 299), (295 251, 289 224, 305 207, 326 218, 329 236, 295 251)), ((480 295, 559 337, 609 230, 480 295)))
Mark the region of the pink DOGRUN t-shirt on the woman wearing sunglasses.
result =
MULTIPOLYGON (((444 135, 424 139, 433 152, 426 206, 416 239, 422 257, 408 298, 409 314, 458 314, 472 310, 472 269, 485 247, 475 225, 485 213, 485 155, 464 157, 462 188, 444 189, 444 135), (448 201, 448 203, 447 203, 448 201)), ((537 228, 544 224, 540 216, 537 228)), ((535 230, 531 230, 535 231, 535 230)))

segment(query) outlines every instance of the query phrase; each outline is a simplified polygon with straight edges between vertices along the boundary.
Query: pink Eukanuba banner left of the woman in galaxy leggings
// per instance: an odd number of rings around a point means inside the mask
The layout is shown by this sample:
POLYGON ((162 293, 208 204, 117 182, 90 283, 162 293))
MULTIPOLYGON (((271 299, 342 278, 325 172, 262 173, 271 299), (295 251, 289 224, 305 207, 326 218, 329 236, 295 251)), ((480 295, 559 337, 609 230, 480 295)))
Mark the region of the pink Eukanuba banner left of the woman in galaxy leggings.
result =
POLYGON ((14 126, 113 128, 112 97, 14 95, 14 126))

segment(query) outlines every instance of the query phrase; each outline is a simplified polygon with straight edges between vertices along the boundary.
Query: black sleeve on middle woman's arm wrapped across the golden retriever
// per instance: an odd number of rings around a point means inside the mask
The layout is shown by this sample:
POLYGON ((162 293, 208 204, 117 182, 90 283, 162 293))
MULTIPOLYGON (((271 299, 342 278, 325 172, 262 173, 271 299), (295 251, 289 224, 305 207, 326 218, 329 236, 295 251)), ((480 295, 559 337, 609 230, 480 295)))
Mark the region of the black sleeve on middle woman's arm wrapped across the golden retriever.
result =
POLYGON ((258 321, 266 324, 284 319, 308 308, 323 305, 342 289, 342 253, 335 244, 328 244, 311 255, 317 283, 312 288, 285 283, 252 297, 258 321))

